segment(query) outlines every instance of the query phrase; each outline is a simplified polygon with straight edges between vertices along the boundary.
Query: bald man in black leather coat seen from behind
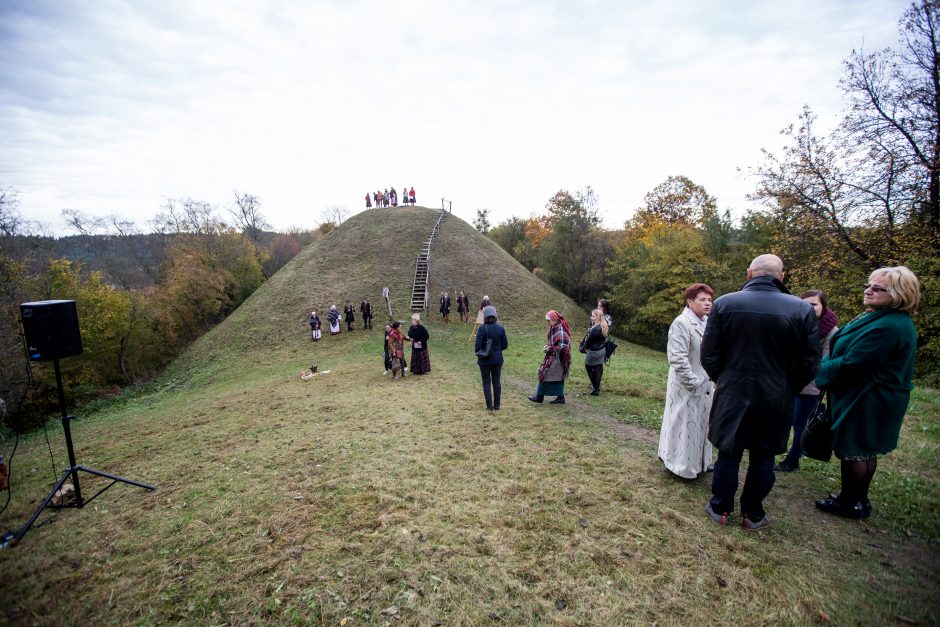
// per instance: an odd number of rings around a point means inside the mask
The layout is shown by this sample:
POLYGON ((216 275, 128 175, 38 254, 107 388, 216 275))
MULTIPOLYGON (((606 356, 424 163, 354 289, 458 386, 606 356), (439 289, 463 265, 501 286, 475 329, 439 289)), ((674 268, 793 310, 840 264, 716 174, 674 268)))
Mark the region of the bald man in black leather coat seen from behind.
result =
POLYGON ((770 526, 763 501, 774 485, 774 456, 786 451, 793 399, 819 366, 816 314, 783 276, 780 257, 755 258, 741 291, 715 301, 702 338, 702 366, 717 385, 708 439, 718 459, 705 511, 727 523, 747 450, 741 513, 748 531, 770 526))

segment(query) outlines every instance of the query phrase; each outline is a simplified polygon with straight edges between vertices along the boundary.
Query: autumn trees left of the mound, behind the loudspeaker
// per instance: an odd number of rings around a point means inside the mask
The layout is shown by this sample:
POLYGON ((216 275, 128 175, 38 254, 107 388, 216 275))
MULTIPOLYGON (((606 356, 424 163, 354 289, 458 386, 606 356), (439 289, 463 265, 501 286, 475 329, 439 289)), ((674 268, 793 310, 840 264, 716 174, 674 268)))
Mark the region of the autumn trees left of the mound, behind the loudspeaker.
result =
POLYGON ((249 194, 236 194, 226 218, 203 201, 167 200, 148 233, 63 213, 77 235, 43 236, 0 188, 0 398, 15 430, 57 406, 51 366, 26 359, 20 303, 76 301, 84 350, 60 366, 70 400, 88 400, 150 379, 335 226, 273 233, 249 194))

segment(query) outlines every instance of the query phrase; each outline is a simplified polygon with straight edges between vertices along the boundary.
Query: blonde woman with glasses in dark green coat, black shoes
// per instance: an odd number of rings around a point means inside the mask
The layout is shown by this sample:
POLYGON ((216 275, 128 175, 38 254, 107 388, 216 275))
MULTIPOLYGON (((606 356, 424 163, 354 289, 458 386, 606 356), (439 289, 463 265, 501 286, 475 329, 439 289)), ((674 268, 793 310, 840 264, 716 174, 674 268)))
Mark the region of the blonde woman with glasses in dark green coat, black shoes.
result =
POLYGON ((842 491, 816 507, 848 518, 871 515, 868 487, 877 456, 898 445, 917 350, 911 315, 920 303, 920 282, 914 273, 904 266, 879 268, 864 288, 867 310, 832 336, 816 375, 816 385, 829 394, 832 449, 842 461, 842 491))

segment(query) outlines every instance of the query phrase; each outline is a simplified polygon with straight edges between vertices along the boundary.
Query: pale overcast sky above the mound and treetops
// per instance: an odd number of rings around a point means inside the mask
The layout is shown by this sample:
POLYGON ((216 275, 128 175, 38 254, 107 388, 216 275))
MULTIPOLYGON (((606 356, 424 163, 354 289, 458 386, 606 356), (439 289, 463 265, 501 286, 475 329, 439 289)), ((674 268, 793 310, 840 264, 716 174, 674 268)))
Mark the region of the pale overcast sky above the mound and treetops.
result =
POLYGON ((0 0, 0 186, 59 233, 235 190, 313 227, 405 185, 494 224, 590 185, 616 228, 679 174, 740 213, 761 148, 804 104, 833 124, 842 61, 908 4, 0 0))

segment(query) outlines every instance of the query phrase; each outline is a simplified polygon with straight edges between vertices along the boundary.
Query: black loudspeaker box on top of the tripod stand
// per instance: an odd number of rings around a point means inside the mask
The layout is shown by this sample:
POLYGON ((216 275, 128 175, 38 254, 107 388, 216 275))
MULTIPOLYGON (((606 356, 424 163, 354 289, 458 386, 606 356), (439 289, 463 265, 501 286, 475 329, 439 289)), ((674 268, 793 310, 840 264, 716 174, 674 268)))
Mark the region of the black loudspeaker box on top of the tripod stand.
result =
POLYGON ((27 355, 49 361, 82 354, 78 310, 74 300, 42 300, 20 305, 27 355))

